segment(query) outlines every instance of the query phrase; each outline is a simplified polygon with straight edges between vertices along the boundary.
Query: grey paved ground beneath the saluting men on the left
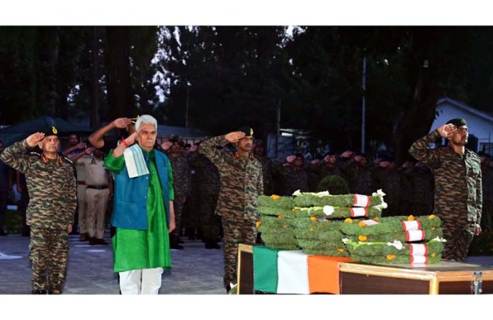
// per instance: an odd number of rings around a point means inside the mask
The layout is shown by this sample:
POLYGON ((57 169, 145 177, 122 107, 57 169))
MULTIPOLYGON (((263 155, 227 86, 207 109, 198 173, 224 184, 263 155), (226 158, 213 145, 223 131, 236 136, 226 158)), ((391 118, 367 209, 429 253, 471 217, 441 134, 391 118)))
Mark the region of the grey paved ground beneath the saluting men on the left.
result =
MULTIPOLYGON (((109 234, 105 235, 110 241, 109 234)), ((185 249, 171 250, 171 270, 163 273, 161 294, 225 294, 222 249, 205 249, 199 240, 185 240, 185 249)), ((69 237, 65 294, 118 295, 111 245, 89 246, 69 237)), ((30 294, 29 237, 0 237, 0 294, 30 294)))

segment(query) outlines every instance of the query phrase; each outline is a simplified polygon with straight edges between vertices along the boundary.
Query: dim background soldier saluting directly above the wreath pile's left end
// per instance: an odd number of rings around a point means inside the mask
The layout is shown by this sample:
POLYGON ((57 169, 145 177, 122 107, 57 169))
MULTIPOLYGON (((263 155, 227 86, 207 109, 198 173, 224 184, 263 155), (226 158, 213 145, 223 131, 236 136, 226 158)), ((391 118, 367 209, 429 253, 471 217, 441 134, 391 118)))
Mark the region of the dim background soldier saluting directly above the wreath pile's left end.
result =
POLYGON ((276 164, 273 168, 278 181, 278 195, 293 195, 296 190, 307 192, 308 175, 303 168, 301 154, 288 156, 285 164, 276 164))

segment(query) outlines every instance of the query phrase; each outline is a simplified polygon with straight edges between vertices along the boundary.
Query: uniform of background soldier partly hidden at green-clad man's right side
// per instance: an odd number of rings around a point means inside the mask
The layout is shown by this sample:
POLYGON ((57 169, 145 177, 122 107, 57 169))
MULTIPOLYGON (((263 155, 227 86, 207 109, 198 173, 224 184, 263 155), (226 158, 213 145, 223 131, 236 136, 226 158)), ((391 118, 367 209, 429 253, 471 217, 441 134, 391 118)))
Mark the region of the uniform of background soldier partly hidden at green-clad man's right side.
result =
POLYGON ((171 234, 174 236, 172 241, 176 241, 181 234, 181 216, 183 214, 183 207, 185 206, 186 198, 190 195, 191 168, 188 165, 188 155, 186 153, 182 153, 180 156, 172 156, 169 151, 167 151, 166 155, 173 168, 173 187, 175 191, 173 206, 176 229, 174 229, 174 232, 171 232, 171 234))

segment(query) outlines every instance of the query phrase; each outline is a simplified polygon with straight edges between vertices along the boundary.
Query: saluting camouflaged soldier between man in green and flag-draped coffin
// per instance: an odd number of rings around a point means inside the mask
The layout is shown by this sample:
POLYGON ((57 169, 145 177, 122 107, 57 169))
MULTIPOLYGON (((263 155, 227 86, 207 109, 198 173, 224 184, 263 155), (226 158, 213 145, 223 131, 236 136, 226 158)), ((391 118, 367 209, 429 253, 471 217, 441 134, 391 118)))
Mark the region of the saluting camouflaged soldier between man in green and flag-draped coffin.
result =
POLYGON ((221 216, 224 229, 224 284, 227 291, 230 283, 237 282, 238 244, 255 244, 256 241, 257 197, 263 194, 263 177, 260 161, 250 153, 253 131, 242 128, 200 144, 200 153, 217 166, 221 178, 216 213, 221 216), (237 152, 217 149, 227 142, 235 144, 237 152))

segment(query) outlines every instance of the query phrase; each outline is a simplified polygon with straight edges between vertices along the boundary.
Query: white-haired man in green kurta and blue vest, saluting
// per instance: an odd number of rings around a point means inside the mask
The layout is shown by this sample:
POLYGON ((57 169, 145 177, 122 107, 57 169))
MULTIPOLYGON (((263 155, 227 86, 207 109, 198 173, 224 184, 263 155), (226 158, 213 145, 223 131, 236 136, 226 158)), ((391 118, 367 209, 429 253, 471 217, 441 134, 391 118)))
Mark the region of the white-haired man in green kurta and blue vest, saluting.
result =
POLYGON ((115 176, 114 271, 122 294, 157 294, 163 268, 171 267, 173 172, 166 155, 153 149, 157 121, 142 115, 135 130, 105 159, 115 176))

